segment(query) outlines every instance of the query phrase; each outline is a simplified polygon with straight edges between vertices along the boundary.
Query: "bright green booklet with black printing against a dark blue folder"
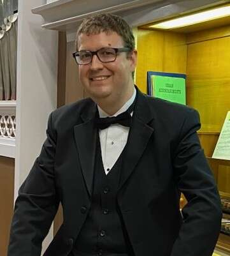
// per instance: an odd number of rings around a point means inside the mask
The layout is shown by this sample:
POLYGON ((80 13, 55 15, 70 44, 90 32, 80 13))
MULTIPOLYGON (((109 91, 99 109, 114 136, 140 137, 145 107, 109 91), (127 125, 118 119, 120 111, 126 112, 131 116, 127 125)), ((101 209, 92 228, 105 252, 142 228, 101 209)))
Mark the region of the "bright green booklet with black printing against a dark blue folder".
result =
POLYGON ((152 75, 152 96, 185 105, 185 79, 182 77, 166 77, 152 75))

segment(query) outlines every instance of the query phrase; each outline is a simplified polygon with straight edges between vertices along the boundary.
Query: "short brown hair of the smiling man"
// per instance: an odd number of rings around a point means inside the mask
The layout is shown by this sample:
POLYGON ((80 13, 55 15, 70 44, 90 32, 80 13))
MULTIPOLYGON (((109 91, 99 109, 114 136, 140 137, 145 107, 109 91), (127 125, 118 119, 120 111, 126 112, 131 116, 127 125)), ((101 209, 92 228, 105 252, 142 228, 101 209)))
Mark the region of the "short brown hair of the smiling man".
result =
POLYGON ((100 13, 83 20, 76 33, 76 49, 78 49, 78 37, 80 34, 99 34, 104 32, 116 32, 122 37, 124 47, 129 47, 131 50, 135 48, 135 40, 131 27, 125 20, 117 15, 110 13, 100 13))

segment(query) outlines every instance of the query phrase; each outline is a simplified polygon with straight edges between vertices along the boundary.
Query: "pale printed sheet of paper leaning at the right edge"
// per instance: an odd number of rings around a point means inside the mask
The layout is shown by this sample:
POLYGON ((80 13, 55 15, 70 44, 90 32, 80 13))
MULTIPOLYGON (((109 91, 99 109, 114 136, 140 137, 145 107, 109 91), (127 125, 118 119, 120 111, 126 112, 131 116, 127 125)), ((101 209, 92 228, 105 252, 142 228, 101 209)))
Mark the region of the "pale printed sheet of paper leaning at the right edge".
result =
POLYGON ((230 160, 230 111, 227 112, 212 158, 230 160))

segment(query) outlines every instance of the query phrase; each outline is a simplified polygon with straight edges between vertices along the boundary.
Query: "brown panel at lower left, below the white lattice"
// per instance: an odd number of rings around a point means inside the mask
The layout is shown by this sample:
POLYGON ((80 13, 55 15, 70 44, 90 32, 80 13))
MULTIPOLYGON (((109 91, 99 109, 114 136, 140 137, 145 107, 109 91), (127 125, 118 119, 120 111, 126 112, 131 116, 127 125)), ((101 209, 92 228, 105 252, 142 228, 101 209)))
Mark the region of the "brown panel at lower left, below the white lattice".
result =
POLYGON ((0 255, 6 256, 13 215, 15 160, 0 156, 0 255))

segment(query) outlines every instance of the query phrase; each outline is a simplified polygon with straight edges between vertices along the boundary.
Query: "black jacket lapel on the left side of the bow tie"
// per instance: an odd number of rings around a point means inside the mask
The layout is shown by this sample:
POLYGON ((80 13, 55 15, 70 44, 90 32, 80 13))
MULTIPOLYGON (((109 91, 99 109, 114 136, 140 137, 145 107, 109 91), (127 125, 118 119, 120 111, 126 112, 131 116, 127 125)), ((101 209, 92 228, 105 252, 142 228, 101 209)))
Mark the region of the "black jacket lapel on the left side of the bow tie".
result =
POLYGON ((76 147, 82 166, 82 174, 90 196, 92 195, 97 139, 97 129, 94 126, 95 113, 96 104, 92 104, 81 116, 83 123, 74 127, 76 147))

